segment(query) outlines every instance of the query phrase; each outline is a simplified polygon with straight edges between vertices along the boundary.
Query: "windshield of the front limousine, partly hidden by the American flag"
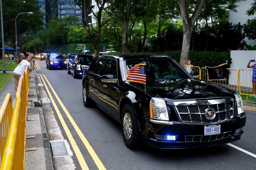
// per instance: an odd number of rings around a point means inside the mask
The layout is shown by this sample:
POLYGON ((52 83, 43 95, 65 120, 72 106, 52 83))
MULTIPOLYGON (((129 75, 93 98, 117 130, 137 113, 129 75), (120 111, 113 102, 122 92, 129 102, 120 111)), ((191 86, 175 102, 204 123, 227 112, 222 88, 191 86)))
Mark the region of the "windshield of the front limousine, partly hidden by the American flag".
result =
POLYGON ((190 78, 172 60, 127 60, 127 70, 139 63, 146 63, 147 84, 165 84, 190 78))

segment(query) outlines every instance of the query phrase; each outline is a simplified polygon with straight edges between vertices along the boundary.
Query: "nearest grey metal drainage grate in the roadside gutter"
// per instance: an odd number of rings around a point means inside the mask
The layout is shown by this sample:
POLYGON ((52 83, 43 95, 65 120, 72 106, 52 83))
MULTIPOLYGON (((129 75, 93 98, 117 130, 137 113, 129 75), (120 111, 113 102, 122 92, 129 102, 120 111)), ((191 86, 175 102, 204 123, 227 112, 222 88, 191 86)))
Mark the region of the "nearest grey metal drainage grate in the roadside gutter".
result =
POLYGON ((67 155, 73 155, 70 149, 67 149, 67 140, 58 140, 58 141, 52 141, 52 154, 53 156, 67 156, 67 155), (68 152, 69 151, 69 152, 68 152))

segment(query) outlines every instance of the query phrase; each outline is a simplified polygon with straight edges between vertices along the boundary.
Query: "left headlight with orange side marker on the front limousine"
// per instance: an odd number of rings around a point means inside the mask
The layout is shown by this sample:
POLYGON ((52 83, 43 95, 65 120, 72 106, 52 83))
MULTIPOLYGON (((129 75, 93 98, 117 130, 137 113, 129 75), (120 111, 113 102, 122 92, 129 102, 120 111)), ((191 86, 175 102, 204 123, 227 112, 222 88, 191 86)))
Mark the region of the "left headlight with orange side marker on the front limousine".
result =
POLYGON ((169 121, 164 99, 152 97, 149 104, 150 118, 169 121))

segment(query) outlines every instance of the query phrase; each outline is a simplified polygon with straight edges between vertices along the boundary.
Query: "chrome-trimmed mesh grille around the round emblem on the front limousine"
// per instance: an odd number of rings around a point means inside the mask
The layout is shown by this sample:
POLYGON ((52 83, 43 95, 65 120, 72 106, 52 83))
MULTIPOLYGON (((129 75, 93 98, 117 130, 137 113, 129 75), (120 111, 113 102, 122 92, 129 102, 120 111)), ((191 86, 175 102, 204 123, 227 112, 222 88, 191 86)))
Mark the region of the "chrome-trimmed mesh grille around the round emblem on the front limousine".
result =
POLYGON ((215 123, 233 117, 233 102, 212 105, 175 106, 182 122, 215 123), (206 108, 213 108, 216 112, 214 119, 209 120, 204 115, 206 108))

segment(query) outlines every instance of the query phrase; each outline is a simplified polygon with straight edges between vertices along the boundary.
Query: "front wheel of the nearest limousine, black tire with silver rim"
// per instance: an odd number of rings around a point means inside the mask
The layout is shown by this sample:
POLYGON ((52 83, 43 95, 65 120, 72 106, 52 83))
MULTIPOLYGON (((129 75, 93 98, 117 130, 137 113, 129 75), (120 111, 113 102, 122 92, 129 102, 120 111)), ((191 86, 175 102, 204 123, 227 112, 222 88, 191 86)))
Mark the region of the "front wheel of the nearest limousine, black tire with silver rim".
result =
POLYGON ((141 143, 139 126, 135 112, 130 104, 125 104, 121 116, 121 131, 124 143, 130 149, 137 149, 141 143))

